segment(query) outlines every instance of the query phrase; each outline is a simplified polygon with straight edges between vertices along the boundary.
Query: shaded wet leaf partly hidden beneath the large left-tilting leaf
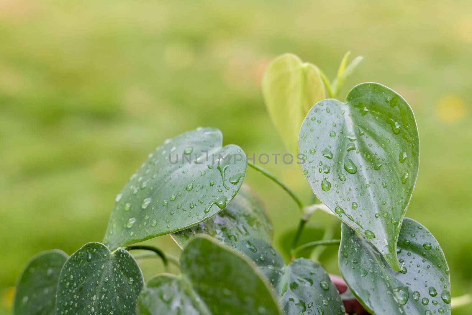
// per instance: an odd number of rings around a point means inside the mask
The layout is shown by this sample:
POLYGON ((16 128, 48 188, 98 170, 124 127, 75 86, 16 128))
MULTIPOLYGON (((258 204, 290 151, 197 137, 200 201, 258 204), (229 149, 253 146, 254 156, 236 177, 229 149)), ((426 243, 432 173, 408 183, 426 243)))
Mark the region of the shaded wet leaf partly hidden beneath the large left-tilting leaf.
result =
POLYGON ((234 246, 238 240, 250 236, 271 242, 273 230, 261 199, 249 186, 243 185, 224 210, 207 221, 171 236, 178 246, 184 248, 192 236, 200 233, 234 246))

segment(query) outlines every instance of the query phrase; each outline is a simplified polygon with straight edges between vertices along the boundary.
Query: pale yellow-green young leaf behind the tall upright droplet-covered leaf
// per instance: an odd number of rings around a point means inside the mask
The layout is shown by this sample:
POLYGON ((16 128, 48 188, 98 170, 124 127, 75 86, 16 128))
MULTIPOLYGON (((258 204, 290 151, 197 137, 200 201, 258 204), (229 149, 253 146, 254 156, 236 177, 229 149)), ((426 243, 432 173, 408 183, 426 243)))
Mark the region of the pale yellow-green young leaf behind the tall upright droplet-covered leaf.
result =
POLYGON ((313 104, 325 98, 318 69, 294 54, 281 55, 266 69, 262 93, 285 145, 297 152, 298 126, 313 104))

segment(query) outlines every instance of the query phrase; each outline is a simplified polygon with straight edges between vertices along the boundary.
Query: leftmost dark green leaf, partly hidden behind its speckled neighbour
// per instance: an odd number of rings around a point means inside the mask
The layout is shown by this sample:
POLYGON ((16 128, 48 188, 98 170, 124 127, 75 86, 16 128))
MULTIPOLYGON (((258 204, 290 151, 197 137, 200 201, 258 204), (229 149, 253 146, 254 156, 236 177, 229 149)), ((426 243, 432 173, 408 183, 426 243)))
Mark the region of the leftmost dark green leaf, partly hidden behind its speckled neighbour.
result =
POLYGON ((34 256, 17 283, 14 315, 55 315, 59 273, 67 254, 54 249, 34 256))

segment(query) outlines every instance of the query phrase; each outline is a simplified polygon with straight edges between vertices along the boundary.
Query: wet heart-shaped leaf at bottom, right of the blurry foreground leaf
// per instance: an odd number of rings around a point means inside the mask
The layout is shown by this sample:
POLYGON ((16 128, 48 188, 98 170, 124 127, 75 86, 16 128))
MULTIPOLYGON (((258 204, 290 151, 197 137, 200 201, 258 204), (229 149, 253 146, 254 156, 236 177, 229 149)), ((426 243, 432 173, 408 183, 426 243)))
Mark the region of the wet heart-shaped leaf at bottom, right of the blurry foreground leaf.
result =
POLYGON ((297 258, 287 266, 282 257, 261 239, 244 239, 236 248, 261 268, 275 287, 287 315, 344 315, 346 309, 336 286, 323 268, 310 259, 297 258))

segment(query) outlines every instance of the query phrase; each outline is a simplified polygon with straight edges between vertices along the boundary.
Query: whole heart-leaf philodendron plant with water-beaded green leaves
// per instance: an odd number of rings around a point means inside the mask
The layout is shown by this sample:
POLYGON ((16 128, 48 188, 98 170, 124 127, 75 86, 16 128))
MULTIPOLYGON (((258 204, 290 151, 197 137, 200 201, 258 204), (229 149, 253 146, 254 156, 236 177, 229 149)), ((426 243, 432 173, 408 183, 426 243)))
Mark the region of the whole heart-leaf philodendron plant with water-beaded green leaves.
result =
POLYGON ((304 204, 273 174, 248 163, 242 148, 223 145, 218 129, 185 132, 149 154, 118 193, 102 243, 70 256, 43 252, 29 262, 14 314, 344 315, 352 314, 354 299, 357 314, 450 314, 441 247, 420 222, 405 218, 420 155, 413 111, 378 83, 356 85, 337 100, 362 60, 348 65, 348 56, 332 83, 292 54, 273 60, 262 82, 270 117, 299 157, 318 203, 304 204), (243 184, 248 166, 274 180, 300 209, 288 264, 271 245, 261 200, 243 184), (333 220, 341 239, 299 245, 316 210, 339 219, 333 220), (179 259, 136 245, 163 235, 182 248, 179 259), (342 295, 316 259, 299 257, 320 245, 339 246, 348 287, 342 295), (144 283, 130 253, 137 249, 180 273, 144 283))

